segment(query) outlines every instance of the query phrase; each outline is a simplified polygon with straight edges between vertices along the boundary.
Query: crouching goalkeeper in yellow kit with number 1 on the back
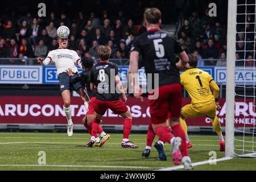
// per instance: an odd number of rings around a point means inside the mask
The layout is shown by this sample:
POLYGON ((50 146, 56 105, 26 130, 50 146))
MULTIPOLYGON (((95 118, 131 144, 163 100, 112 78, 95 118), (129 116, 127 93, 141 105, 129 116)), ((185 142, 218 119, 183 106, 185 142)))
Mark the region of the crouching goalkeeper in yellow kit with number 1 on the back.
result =
POLYGON ((222 136, 220 122, 216 115, 216 107, 218 109, 221 108, 217 102, 220 89, 209 73, 196 68, 197 60, 197 56, 190 54, 188 62, 190 68, 180 75, 181 85, 184 86, 191 97, 191 104, 185 105, 181 109, 180 118, 180 123, 187 139, 187 147, 191 148, 192 144, 188 138, 187 125, 184 119, 206 115, 212 121, 212 126, 220 140, 220 151, 225 151, 225 142, 222 136), (213 94, 210 89, 213 89, 213 94))

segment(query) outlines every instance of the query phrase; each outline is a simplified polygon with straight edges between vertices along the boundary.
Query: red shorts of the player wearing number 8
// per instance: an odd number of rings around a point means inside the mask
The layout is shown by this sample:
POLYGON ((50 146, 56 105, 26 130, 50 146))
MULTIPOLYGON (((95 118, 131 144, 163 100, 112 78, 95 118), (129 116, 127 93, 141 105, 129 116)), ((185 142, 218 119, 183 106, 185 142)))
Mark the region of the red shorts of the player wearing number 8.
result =
POLYGON ((128 107, 121 100, 118 101, 100 101, 96 99, 95 112, 104 115, 106 110, 110 109, 114 114, 126 113, 128 107))

